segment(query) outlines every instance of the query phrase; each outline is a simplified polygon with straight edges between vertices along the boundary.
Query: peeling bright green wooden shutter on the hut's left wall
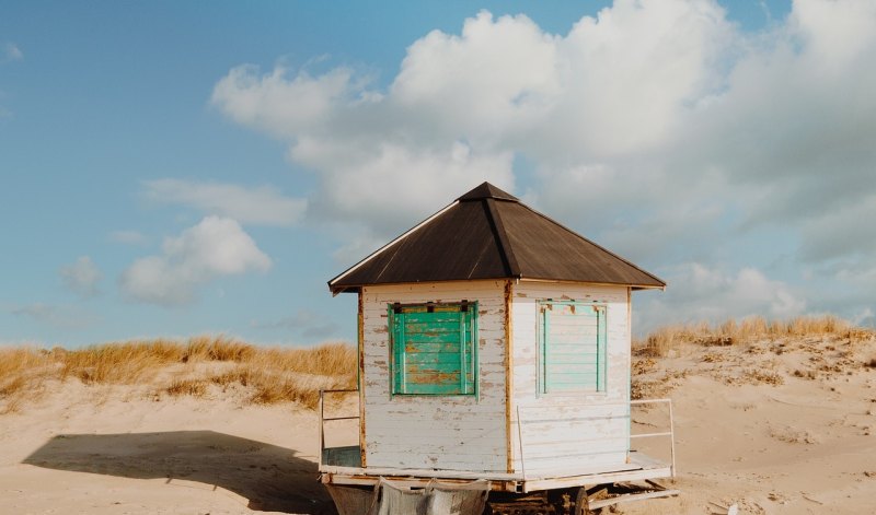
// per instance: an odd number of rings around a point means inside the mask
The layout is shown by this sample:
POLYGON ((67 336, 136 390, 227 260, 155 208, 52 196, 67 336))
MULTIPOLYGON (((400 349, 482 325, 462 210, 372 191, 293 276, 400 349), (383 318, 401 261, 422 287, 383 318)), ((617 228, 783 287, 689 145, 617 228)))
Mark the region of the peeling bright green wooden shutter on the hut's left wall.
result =
POLYGON ((393 394, 475 393, 476 306, 390 306, 393 394))

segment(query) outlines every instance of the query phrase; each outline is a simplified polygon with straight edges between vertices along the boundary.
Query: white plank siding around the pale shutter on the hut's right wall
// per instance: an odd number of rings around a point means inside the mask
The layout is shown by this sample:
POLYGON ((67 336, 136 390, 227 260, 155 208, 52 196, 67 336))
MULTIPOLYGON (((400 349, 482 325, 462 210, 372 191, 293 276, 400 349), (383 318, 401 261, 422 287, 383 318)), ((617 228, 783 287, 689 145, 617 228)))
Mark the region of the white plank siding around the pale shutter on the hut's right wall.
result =
POLYGON ((630 321, 626 286, 521 281, 511 295, 514 471, 574 473, 623 464, 630 444, 630 321), (540 300, 606 306, 606 391, 549 393, 539 388, 540 300), (517 407, 522 456, 517 434, 517 407))

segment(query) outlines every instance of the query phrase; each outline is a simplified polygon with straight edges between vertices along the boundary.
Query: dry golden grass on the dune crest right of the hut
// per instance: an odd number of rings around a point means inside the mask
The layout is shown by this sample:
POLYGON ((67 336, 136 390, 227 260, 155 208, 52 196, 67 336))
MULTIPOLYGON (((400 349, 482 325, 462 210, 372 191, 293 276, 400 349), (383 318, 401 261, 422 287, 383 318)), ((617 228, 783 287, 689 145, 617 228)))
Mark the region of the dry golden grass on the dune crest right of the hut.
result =
POLYGON ((664 396, 691 374, 725 384, 777 386, 786 377, 815 379, 873 368, 875 340, 873 329, 832 315, 661 327, 633 341, 632 395, 664 396), (695 365, 678 365, 685 360, 695 365))

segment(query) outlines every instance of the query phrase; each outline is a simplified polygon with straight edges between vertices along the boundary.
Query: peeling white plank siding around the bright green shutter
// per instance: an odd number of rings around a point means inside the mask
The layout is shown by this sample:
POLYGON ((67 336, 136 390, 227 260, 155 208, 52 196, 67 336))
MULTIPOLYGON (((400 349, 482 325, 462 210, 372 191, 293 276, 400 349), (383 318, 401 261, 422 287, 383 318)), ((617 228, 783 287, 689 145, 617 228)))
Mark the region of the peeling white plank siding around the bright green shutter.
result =
POLYGON ((505 281, 362 289, 368 467, 505 472, 505 281), (391 395, 388 305, 477 302, 479 396, 391 395))

